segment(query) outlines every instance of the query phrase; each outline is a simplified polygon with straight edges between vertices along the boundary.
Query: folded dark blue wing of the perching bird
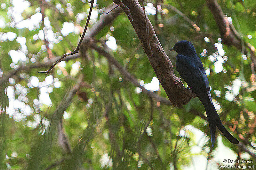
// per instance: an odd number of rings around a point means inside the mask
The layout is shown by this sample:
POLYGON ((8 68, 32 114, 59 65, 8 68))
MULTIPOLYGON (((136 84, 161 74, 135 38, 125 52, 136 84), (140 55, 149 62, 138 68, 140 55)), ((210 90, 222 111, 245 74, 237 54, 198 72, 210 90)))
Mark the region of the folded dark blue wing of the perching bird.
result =
POLYGON ((208 78, 198 56, 192 58, 178 54, 176 58, 176 69, 193 92, 201 93, 206 91, 212 102, 208 78))

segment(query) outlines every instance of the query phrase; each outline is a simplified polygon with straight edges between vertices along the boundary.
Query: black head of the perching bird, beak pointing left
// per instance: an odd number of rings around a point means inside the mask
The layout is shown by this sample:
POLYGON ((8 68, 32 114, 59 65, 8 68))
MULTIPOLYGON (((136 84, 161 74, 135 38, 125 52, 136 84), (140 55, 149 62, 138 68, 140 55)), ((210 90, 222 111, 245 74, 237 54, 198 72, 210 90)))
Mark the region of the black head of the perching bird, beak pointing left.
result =
POLYGON ((187 40, 176 42, 170 51, 176 51, 178 54, 196 55, 196 49, 193 44, 187 40))

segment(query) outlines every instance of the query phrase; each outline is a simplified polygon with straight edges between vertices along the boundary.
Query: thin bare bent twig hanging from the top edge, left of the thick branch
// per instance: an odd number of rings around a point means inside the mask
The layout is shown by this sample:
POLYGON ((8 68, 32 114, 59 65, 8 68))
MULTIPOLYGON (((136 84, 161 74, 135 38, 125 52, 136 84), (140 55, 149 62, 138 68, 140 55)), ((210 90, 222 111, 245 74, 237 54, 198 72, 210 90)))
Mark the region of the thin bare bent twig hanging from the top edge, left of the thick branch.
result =
POLYGON ((72 51, 71 53, 66 53, 66 54, 62 55, 62 57, 60 57, 60 59, 59 59, 56 63, 54 63, 54 64, 52 65, 52 67, 51 67, 50 69, 48 69, 47 71, 38 71, 38 73, 46 73, 46 74, 49 74, 49 72, 52 70, 52 68, 55 67, 55 65, 57 65, 58 63, 60 63, 60 61, 61 61, 63 58, 65 58, 66 56, 74 55, 74 54, 78 53, 79 48, 80 48, 80 45, 81 45, 81 43, 82 43, 82 41, 83 41, 83 39, 84 39, 84 35, 85 35, 85 33, 86 33, 87 27, 88 27, 88 25, 89 25, 89 20, 90 20, 90 18, 91 18, 92 7, 93 7, 94 0, 91 0, 91 1, 88 2, 88 3, 91 4, 91 6, 90 6, 90 11, 89 11, 89 15, 88 15, 88 18, 87 18, 87 21, 86 21, 86 25, 85 25, 85 27, 84 27, 84 32, 83 32, 83 34, 82 34, 82 36, 81 36, 81 38, 80 38, 80 41, 79 41, 79 43, 78 43, 76 49, 75 49, 74 51, 72 51))

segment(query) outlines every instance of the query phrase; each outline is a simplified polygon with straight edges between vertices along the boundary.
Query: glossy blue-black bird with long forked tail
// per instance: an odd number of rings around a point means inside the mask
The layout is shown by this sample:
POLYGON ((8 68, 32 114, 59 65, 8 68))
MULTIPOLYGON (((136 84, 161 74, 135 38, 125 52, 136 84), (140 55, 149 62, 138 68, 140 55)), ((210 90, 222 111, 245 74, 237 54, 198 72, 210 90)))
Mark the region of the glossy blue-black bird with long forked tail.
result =
POLYGON ((181 78, 185 80, 188 87, 204 105, 210 126, 212 147, 215 142, 216 127, 220 129, 231 143, 238 144, 239 141, 233 137, 221 123, 220 116, 213 106, 208 78, 200 58, 196 55, 196 49, 193 44, 186 40, 179 41, 170 49, 170 51, 173 50, 178 53, 175 66, 181 78))

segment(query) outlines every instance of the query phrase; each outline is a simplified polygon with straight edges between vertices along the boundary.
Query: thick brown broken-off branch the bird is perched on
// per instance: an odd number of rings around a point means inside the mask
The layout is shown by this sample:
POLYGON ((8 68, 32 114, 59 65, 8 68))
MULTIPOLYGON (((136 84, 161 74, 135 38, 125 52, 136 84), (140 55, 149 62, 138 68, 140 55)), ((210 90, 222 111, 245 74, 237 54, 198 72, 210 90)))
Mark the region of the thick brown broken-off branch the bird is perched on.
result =
MULTIPOLYGON (((115 4, 118 4, 119 0, 114 0, 115 4)), ((182 106, 187 104, 190 99, 196 97, 194 93, 190 90, 186 89, 180 78, 176 77, 173 71, 172 62, 165 54, 164 49, 162 48, 160 42, 156 37, 156 33, 153 29, 151 22, 149 21, 148 17, 146 17, 146 21, 148 23, 148 33, 150 35, 150 45, 153 52, 151 55, 148 42, 147 42, 147 33, 145 22, 144 11, 141 8, 139 2, 137 0, 122 0, 122 2, 130 9, 131 17, 128 17, 137 36, 142 44, 142 47, 145 53, 148 56, 148 60, 153 67, 158 80, 160 81, 161 85, 163 86, 169 100, 171 101, 173 106, 182 106)), ((129 13, 127 10, 121 6, 127 16, 129 13)))

